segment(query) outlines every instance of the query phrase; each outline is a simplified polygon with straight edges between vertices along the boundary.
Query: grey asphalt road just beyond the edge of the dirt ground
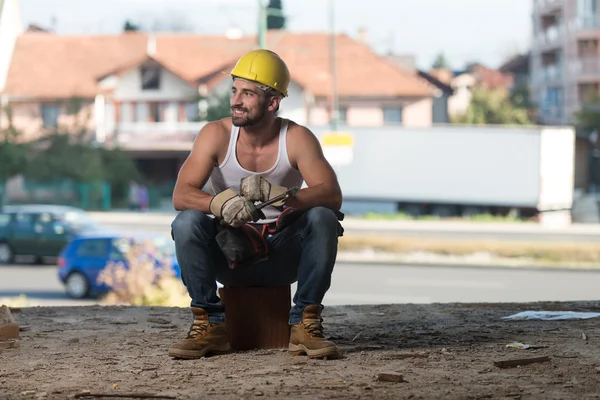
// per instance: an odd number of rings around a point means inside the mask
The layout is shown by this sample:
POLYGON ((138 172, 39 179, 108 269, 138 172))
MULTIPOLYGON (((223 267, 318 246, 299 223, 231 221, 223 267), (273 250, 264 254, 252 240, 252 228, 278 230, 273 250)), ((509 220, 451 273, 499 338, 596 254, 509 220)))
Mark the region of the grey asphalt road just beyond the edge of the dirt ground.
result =
MULTIPOLYGON (((324 304, 598 300, 599 282, 600 271, 338 263, 324 304)), ((54 266, 0 266, 0 299, 21 294, 29 306, 98 303, 67 298, 54 266)))

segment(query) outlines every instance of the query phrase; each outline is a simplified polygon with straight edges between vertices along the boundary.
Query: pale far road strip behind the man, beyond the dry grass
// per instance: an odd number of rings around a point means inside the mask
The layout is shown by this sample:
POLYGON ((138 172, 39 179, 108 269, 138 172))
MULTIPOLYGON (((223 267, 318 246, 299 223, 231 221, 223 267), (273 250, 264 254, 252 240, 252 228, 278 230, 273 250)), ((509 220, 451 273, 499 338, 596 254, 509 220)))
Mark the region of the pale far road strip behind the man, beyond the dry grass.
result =
MULTIPOLYGON (((116 229, 169 233, 175 213, 94 212, 98 222, 116 229)), ((599 224, 548 227, 536 223, 463 221, 365 220, 348 217, 342 225, 349 235, 435 237, 464 240, 598 242, 599 224)))

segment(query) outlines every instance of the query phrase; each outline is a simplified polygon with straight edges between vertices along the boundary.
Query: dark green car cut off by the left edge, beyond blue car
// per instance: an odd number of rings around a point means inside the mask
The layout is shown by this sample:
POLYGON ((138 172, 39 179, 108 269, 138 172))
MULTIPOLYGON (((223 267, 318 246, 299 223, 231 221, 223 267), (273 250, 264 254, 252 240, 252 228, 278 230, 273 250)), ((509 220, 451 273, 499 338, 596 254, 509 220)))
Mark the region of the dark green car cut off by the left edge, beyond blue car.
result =
POLYGON ((15 256, 32 256, 36 262, 56 258, 72 238, 101 229, 79 208, 6 205, 0 209, 0 264, 12 262, 15 256))

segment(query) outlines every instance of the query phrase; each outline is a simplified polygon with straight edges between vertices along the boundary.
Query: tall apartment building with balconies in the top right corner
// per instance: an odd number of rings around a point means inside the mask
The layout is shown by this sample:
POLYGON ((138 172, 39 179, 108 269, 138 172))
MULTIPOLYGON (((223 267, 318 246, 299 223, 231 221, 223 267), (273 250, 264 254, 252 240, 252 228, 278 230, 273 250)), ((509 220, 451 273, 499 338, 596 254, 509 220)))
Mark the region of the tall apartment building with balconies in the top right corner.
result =
POLYGON ((534 0, 532 98, 543 124, 568 124, 600 90, 600 0, 534 0))

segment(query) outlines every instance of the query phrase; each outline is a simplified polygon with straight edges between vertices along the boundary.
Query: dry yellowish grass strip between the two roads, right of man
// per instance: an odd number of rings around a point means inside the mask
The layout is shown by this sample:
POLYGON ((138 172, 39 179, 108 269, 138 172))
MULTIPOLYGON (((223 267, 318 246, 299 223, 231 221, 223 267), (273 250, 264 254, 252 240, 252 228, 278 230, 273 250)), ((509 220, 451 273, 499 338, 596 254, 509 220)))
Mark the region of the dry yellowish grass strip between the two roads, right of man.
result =
POLYGON ((427 252, 441 255, 466 256, 489 253, 505 258, 527 258, 550 263, 600 264, 600 243, 521 242, 494 240, 452 240, 437 238, 386 237, 344 235, 340 251, 378 250, 389 253, 427 252))

